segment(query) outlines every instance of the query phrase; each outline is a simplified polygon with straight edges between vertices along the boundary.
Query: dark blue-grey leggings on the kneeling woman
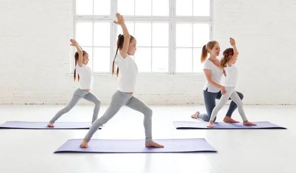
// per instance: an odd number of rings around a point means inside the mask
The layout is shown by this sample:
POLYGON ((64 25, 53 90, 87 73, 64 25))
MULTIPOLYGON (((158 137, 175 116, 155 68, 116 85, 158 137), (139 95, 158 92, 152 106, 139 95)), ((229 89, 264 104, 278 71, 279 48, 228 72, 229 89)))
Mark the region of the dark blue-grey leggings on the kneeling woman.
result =
MULTIPOLYGON (((244 95, 240 92, 235 91, 239 98, 241 100, 243 100, 244 95)), ((222 94, 221 92, 209 92, 208 88, 206 90, 203 90, 203 96, 204 96, 204 100, 205 100, 205 105, 206 105, 206 110, 207 113, 200 113, 199 115, 197 115, 198 118, 203 119, 204 121, 210 121, 211 115, 212 115, 212 111, 216 106, 216 99, 221 98, 222 94)), ((231 98, 229 98, 230 100, 231 98)), ((226 113, 226 116, 230 116, 232 115, 232 113, 235 111, 235 109, 237 108, 237 105, 232 101, 229 105, 228 111, 226 113)), ((216 118, 214 119, 214 121, 216 120, 216 118)))

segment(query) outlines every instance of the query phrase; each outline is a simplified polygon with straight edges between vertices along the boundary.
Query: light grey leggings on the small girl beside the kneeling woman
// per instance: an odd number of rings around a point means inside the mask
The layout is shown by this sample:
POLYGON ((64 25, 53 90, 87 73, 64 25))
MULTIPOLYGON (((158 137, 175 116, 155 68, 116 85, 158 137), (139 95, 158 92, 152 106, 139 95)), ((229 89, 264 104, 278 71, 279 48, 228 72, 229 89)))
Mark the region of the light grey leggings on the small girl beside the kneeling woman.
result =
POLYGON ((222 95, 218 105, 213 109, 210 120, 214 121, 218 112, 226 104, 228 99, 231 98, 231 100, 234 101, 234 103, 237 105, 238 112, 241 115, 243 121, 246 121, 247 117, 246 117, 244 109, 243 109, 243 102, 239 98, 238 94, 235 92, 235 87, 225 87, 225 90, 226 90, 226 93, 222 95))

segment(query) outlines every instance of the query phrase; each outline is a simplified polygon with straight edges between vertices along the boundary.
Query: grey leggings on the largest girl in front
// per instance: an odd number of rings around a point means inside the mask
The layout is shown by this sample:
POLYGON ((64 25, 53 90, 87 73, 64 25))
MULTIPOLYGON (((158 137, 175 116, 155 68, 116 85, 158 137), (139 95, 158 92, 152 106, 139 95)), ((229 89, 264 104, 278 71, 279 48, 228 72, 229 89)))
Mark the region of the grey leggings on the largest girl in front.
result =
POLYGON ((111 97, 111 103, 107 108, 104 115, 95 120, 95 122, 90 127, 88 133, 86 134, 84 140, 90 141, 93 134, 99 129, 99 127, 109 121, 122 106, 126 105, 127 107, 132 108, 133 110, 139 111, 144 114, 144 128, 146 142, 152 141, 152 129, 151 129, 151 117, 152 110, 140 99, 133 96, 133 94, 116 91, 111 97))

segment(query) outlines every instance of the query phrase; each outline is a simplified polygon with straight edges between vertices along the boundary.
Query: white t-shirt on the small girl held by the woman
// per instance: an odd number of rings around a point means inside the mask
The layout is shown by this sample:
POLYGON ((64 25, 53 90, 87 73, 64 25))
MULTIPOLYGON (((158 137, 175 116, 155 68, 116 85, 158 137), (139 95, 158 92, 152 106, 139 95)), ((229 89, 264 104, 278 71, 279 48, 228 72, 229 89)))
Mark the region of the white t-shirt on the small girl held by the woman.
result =
POLYGON ((234 64, 231 65, 231 67, 228 66, 228 63, 226 63, 226 67, 224 68, 226 72, 225 77, 225 87, 236 87, 237 85, 237 77, 238 77, 238 70, 234 66, 234 64))

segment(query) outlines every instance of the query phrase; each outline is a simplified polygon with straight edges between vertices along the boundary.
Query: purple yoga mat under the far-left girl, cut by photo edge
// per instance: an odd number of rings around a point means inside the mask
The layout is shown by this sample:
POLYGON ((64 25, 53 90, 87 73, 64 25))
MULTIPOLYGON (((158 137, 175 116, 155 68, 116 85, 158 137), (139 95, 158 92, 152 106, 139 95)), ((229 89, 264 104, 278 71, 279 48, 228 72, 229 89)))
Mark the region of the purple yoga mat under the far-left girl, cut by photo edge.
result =
MULTIPOLYGON (((48 122, 7 121, 0 128, 10 129, 89 129, 91 122, 55 122, 54 127, 48 127, 48 122)), ((104 127, 101 126, 99 129, 104 127)))

